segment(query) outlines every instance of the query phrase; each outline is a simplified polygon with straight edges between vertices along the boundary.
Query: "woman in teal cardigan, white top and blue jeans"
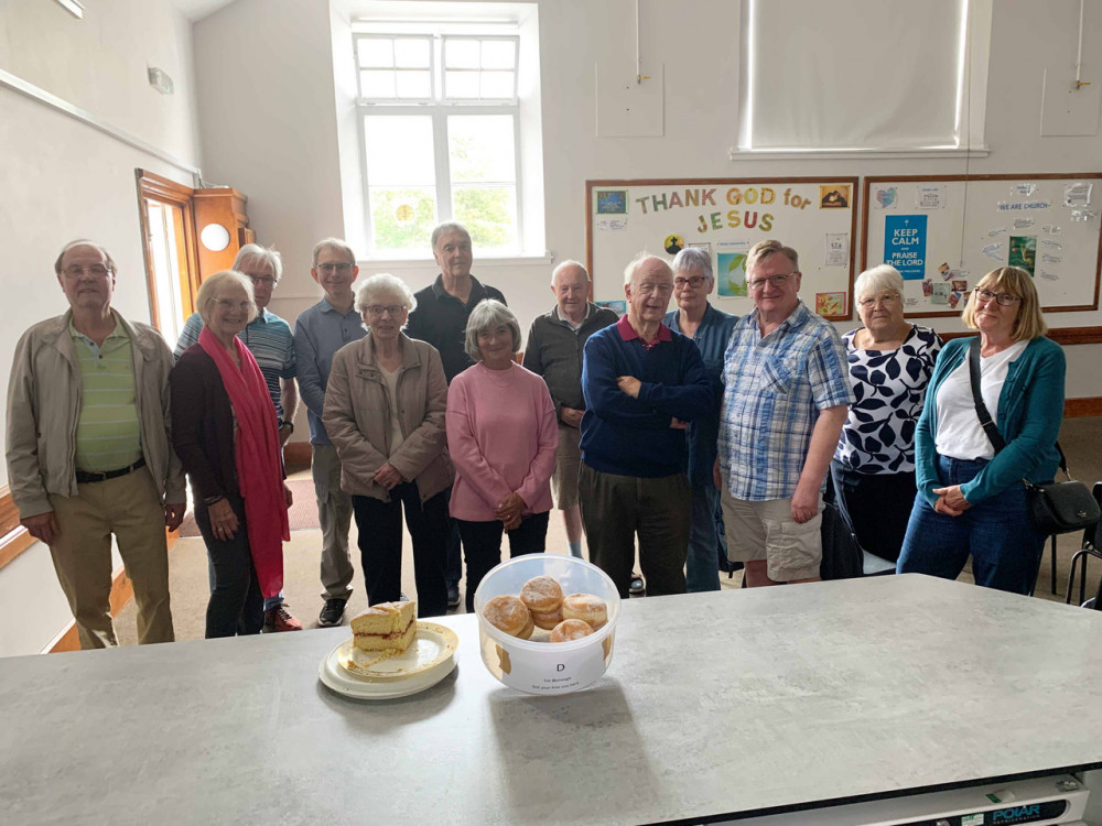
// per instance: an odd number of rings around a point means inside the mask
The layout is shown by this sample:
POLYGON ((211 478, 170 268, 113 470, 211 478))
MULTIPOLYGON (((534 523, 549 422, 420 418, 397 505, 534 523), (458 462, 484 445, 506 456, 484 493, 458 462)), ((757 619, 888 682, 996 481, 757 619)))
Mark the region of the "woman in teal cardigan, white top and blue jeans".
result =
POLYGON ((996 450, 980 424, 974 339, 953 339, 918 423, 918 496, 896 569, 955 579, 971 554, 976 585, 1029 594, 1046 537, 1029 520, 1023 479, 1051 481, 1059 466, 1063 350, 1045 338, 1033 276, 1017 267, 984 275, 962 318, 980 330, 980 394, 1005 447, 996 450))

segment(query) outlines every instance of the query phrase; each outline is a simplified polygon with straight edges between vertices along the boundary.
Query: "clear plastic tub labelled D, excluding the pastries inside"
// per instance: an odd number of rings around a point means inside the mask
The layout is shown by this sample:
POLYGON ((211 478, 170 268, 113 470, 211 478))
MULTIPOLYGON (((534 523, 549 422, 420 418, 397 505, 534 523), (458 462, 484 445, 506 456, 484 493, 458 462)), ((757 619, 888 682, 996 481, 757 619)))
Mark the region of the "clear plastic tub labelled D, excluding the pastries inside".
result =
POLYGON ((483 662, 489 673, 510 688, 529 694, 576 692, 601 678, 613 659, 620 598, 613 580, 584 559, 560 554, 526 554, 490 570, 475 591, 475 613, 483 662), (494 597, 519 596, 532 577, 550 576, 565 596, 592 594, 605 600, 608 621, 592 634, 569 642, 549 642, 537 628, 531 639, 511 637, 491 624, 483 608, 494 597))

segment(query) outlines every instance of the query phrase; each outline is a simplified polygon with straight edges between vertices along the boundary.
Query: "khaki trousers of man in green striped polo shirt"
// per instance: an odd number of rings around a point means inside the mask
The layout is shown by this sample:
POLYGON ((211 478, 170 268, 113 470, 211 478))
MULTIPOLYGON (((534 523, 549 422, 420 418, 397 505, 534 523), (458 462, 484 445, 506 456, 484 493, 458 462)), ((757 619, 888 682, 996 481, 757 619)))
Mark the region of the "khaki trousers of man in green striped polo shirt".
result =
POLYGON ((50 497, 58 528, 50 555, 76 620, 80 648, 118 645, 110 605, 112 533, 133 584, 138 642, 172 642, 164 504, 149 468, 77 489, 75 497, 50 497))

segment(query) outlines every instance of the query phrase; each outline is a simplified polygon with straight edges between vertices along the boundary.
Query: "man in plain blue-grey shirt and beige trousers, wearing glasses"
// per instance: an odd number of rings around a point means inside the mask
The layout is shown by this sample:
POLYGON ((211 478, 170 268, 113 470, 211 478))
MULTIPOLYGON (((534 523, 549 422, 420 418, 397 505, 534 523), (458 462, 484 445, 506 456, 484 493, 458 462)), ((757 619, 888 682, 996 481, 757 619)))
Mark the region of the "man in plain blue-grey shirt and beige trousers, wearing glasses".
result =
POLYGON ((299 392, 306 405, 310 445, 313 448, 310 472, 314 478, 317 521, 322 525, 321 574, 325 605, 317 616, 317 624, 339 626, 345 605, 352 596, 355 575, 348 553, 352 497, 341 489, 341 459, 325 432, 322 414, 333 356, 346 344, 361 339, 367 330, 364 329, 364 319, 353 306, 356 296, 352 284, 359 274, 359 268, 352 247, 338 238, 326 238, 314 244, 311 258, 313 267, 310 276, 325 295, 295 320, 294 349, 299 392))

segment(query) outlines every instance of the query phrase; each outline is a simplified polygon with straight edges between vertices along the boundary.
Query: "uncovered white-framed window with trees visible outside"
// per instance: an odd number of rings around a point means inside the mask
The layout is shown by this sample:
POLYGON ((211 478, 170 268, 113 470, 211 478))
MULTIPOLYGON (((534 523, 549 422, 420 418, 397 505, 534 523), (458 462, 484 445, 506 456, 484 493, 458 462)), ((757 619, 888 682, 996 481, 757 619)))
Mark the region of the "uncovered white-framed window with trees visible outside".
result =
POLYGON ((353 34, 371 254, 423 257, 443 220, 466 226, 480 253, 519 253, 516 28, 371 29, 353 34))

